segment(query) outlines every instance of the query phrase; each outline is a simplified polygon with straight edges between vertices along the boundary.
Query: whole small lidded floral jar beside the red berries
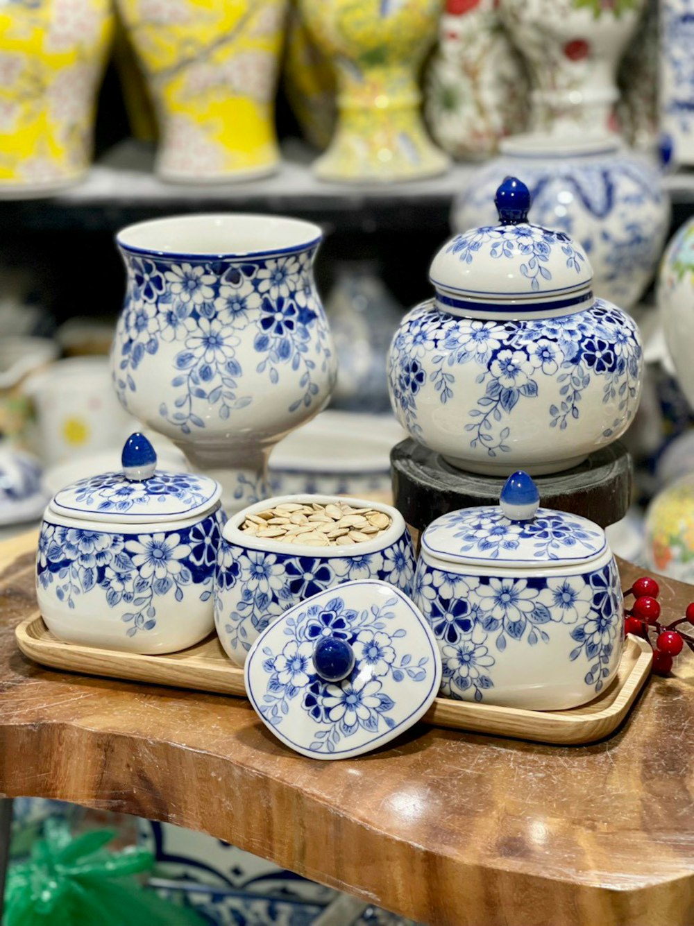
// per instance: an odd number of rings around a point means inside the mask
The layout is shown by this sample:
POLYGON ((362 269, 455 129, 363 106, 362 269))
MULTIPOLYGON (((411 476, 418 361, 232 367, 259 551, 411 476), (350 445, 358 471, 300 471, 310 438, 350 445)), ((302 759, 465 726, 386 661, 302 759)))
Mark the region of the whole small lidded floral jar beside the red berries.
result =
POLYGON ((435 633, 447 697, 560 710, 612 682, 624 602, 605 533, 538 504, 519 472, 500 506, 452 511, 423 532, 414 602, 435 633))

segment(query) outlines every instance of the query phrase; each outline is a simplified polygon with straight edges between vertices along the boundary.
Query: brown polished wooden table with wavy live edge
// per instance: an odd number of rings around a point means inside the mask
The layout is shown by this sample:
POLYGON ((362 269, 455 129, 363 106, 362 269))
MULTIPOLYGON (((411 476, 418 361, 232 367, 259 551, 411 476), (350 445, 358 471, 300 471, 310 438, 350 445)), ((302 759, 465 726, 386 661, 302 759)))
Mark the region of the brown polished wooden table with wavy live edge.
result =
MULTIPOLYGON (((419 726, 370 756, 318 762, 244 700, 22 657, 34 542, 0 544, 0 793, 209 832, 437 926, 694 922, 694 659, 653 679, 599 744, 419 726)), ((635 575, 625 567, 625 583, 635 575)), ((662 581, 664 603, 692 597, 662 581)))

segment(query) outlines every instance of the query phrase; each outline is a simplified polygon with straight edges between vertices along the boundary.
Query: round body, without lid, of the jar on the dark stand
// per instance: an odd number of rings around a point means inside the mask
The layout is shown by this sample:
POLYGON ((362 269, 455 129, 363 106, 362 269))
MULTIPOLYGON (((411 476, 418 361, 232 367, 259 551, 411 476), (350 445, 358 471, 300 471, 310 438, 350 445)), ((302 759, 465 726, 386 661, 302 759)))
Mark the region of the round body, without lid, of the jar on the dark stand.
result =
POLYGON ((506 476, 569 469, 634 417, 637 325, 603 300, 554 319, 459 318, 433 300, 391 345, 391 400, 420 444, 461 469, 506 476))

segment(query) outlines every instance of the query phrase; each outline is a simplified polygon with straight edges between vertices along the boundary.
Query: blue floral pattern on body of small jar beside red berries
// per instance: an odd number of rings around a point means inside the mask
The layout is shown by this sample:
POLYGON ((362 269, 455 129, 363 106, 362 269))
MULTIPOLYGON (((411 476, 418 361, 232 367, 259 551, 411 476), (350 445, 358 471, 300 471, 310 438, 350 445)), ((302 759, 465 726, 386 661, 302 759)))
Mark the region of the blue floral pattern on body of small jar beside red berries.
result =
POLYGON ((580 660, 583 682, 596 694, 621 651, 623 598, 613 559, 581 575, 528 578, 461 576, 421 559, 414 601, 438 641, 447 697, 484 701, 499 662, 509 659, 526 667, 518 672, 531 684, 533 649, 554 642, 560 625, 567 667, 580 660), (523 644, 524 653, 512 644, 523 644))

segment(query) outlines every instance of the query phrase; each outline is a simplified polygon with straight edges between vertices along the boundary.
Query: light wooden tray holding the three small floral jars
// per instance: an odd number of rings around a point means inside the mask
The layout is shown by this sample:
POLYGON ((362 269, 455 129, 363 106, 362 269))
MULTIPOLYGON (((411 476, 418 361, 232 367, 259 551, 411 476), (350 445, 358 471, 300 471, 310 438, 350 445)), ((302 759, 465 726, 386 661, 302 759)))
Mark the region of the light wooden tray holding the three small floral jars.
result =
MULTIPOLYGON (((177 688, 245 696, 244 673, 233 666, 216 636, 196 646, 164 656, 139 656, 116 650, 62 643, 48 632, 38 611, 15 631, 19 649, 35 662, 53 669, 136 682, 157 682, 177 688)), ((571 710, 521 710, 436 698, 423 722, 436 727, 492 733, 572 745, 593 743, 612 733, 625 719, 650 675, 650 644, 628 636, 617 677, 599 697, 571 710)))

